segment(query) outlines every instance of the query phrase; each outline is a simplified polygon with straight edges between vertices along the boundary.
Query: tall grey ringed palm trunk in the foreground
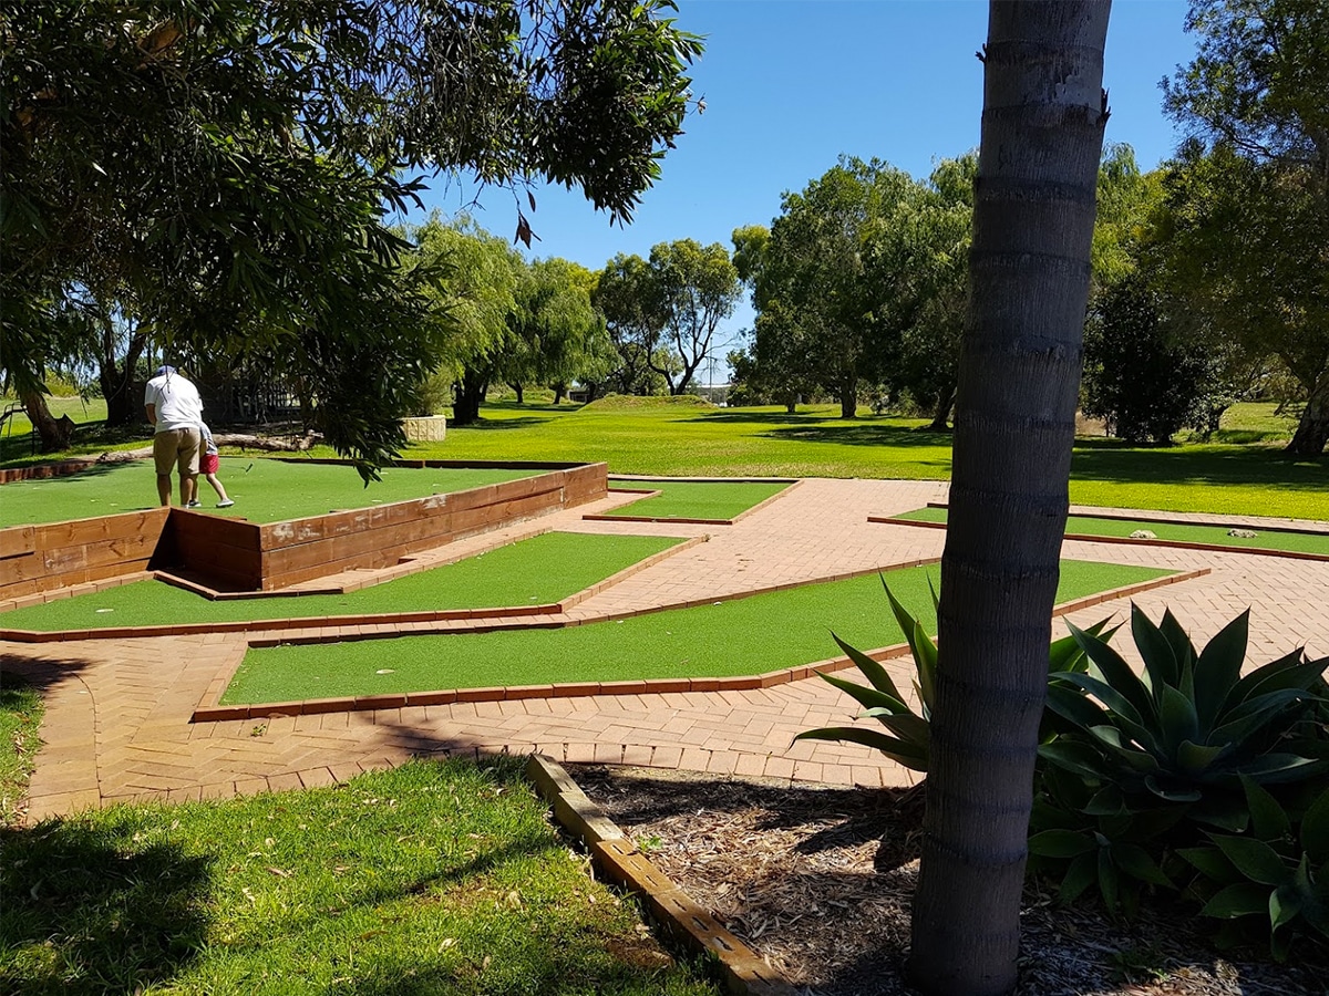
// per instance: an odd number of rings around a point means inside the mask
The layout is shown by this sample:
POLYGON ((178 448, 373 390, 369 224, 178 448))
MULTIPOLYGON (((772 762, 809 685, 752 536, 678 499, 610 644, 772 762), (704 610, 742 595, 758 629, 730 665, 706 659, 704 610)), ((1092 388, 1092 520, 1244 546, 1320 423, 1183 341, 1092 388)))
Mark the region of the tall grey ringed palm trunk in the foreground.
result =
POLYGON ((993 0, 909 975, 1015 985, 1103 126, 1107 0, 993 0))

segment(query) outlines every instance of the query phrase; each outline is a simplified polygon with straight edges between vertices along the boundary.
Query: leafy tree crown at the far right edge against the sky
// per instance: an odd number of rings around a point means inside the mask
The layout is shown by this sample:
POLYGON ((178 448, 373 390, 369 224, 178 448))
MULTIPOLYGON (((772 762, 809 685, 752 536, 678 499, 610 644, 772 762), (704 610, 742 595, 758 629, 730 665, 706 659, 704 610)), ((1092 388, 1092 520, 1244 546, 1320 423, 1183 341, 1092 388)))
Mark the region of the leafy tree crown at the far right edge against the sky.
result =
POLYGON ((1170 170, 1170 259, 1224 335, 1306 393, 1288 452, 1329 442, 1329 5, 1192 0, 1195 60, 1163 81, 1191 131, 1170 170), (1203 143, 1203 145, 1201 145, 1203 143))

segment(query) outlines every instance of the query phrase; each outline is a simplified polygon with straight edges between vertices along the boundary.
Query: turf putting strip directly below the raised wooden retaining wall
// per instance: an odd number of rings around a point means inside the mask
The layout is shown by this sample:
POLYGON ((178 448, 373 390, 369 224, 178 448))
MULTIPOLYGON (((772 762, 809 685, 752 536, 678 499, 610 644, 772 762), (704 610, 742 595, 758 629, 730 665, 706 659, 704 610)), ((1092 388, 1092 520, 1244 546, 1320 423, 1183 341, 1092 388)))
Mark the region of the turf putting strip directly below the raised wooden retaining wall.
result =
POLYGON ((465 560, 344 595, 215 602, 165 582, 145 580, 0 612, 0 628, 49 632, 546 606, 682 542, 675 537, 542 533, 465 560))

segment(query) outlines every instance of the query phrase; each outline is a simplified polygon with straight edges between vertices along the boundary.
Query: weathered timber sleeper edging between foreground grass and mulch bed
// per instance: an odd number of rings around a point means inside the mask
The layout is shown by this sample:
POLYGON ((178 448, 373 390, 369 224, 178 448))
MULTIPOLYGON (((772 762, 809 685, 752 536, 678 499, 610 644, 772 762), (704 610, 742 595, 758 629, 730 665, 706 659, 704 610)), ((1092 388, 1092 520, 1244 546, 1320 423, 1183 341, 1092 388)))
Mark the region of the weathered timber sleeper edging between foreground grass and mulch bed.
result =
POLYGON ((731 993, 795 996, 793 987, 779 972, 657 869, 561 765, 532 754, 526 777, 560 825, 582 841, 603 875, 641 896, 651 918, 675 943, 715 957, 731 993))

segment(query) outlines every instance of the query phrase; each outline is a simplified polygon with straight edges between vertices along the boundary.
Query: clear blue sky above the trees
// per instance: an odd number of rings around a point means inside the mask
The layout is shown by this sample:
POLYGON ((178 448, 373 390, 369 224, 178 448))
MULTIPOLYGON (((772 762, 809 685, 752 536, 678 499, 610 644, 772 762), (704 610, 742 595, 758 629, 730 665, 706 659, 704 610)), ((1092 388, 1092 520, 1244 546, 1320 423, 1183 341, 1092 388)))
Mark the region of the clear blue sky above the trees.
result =
MULTIPOLYGON (((1158 84, 1195 53, 1185 11, 1184 0, 1112 4, 1107 141, 1130 143, 1144 169, 1176 146, 1158 84)), ((691 73, 704 114, 688 116, 630 226, 611 227, 578 193, 537 187, 530 223, 540 242, 530 255, 599 270, 618 252, 645 258, 658 242, 728 247, 734 228, 769 224, 780 195, 801 190, 841 153, 921 178, 934 161, 978 145, 974 52, 987 36, 986 0, 679 0, 676 20, 707 39, 691 73)), ((439 181, 425 203, 449 215, 473 201, 481 226, 512 235, 510 191, 439 181)), ((744 303, 723 339, 751 323, 744 303)))

